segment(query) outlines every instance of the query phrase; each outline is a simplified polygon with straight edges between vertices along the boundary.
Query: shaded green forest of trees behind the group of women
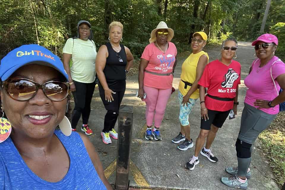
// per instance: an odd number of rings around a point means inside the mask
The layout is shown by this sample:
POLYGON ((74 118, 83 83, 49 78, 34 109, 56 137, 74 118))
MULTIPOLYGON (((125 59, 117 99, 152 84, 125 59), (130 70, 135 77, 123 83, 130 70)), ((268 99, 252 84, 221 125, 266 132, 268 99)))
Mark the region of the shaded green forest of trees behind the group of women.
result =
POLYGON ((111 21, 124 25, 123 44, 140 57, 151 31, 163 20, 175 32, 179 52, 189 50, 189 38, 203 30, 217 43, 229 36, 251 41, 270 32, 279 39, 276 52, 284 58, 284 0, 0 0, 0 58, 23 44, 39 44, 61 56, 79 20, 92 25, 96 46, 108 38, 111 21), (270 4, 264 32, 260 31, 270 4))

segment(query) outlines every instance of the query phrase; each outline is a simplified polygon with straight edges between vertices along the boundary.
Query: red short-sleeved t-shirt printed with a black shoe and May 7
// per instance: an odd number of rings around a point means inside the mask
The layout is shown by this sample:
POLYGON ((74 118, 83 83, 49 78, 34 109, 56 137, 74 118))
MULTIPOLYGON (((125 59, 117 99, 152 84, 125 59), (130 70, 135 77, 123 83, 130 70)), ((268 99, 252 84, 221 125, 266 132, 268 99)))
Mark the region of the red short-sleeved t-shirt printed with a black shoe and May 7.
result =
MULTIPOLYGON (((240 63, 232 61, 227 66, 219 60, 210 62, 203 72, 199 85, 208 88, 207 93, 220 98, 234 98, 240 84, 240 63)), ((221 101, 205 97, 205 104, 209 110, 227 111, 232 109, 233 101, 221 101)))

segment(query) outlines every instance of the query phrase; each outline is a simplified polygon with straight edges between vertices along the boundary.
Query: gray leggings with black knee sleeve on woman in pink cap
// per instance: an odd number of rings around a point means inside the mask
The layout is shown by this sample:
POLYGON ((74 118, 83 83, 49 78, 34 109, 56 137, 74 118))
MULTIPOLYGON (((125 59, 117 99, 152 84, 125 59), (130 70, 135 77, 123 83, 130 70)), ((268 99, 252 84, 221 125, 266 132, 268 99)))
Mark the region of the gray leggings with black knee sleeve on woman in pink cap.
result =
POLYGON ((236 143, 238 176, 246 176, 246 172, 251 162, 251 146, 258 135, 270 125, 276 115, 265 113, 261 110, 257 110, 251 105, 244 104, 240 123, 240 133, 236 143))

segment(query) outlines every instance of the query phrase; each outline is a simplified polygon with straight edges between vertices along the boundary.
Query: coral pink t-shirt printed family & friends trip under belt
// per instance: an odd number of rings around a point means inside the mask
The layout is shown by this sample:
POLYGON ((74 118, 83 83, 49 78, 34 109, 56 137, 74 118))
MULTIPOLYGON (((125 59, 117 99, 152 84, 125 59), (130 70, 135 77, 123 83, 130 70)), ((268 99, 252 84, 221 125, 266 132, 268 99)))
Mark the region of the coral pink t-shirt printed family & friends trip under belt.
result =
MULTIPOLYGON (((146 71, 169 74, 172 72, 176 55, 177 49, 172 42, 168 43, 168 49, 165 53, 159 50, 154 43, 151 43, 145 47, 141 58, 149 61, 148 66, 145 68, 146 71)), ((172 81, 173 75, 160 76, 145 72, 143 85, 158 89, 168 89, 172 88, 172 81)))

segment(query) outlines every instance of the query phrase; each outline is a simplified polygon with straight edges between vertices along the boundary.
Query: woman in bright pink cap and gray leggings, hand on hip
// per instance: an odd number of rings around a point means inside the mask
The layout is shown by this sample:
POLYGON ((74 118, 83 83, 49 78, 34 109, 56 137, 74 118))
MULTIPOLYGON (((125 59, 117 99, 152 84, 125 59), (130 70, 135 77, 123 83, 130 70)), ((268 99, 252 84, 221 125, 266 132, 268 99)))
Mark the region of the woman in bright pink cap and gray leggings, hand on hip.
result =
POLYGON ((279 104, 285 101, 285 65, 274 56, 278 39, 273 34, 262 34, 252 42, 257 59, 251 64, 244 84, 248 88, 240 122, 240 132, 235 143, 238 167, 227 167, 232 177, 221 178, 229 187, 247 189, 252 144, 269 126, 279 112, 279 104))

